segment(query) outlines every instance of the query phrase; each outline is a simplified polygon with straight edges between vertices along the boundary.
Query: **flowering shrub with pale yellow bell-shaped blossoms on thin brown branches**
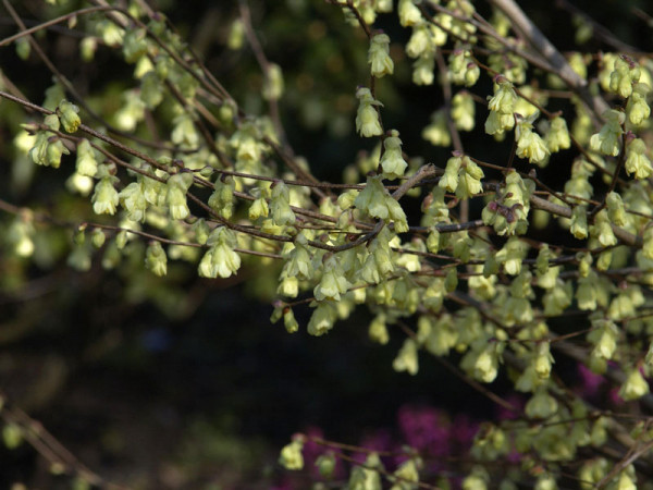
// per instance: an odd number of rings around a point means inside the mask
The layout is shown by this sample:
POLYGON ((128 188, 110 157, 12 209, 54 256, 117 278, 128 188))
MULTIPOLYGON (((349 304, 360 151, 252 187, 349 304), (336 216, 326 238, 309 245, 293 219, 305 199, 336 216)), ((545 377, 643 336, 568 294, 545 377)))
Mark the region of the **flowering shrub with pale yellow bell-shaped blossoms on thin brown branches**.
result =
MULTIPOLYGON (((243 100, 144 1, 46 3, 51 16, 27 27, 5 2, 19 28, 0 46, 53 75, 34 100, 2 75, 2 108, 25 109, 9 130, 13 166, 17 176, 36 172, 35 185, 47 169, 32 166, 58 169, 87 206, 63 217, 0 200, 15 268, 38 264, 56 228, 71 232, 78 271, 94 261, 157 277, 182 267, 218 281, 274 270, 271 320, 289 333, 337 335, 340 320, 367 308, 371 341, 399 339, 396 371, 419 376, 420 359, 434 356, 512 414, 489 417, 470 442, 464 419, 405 408, 408 445, 391 464, 373 448, 361 460, 296 434, 281 450, 287 470, 311 460, 323 477, 368 490, 572 479, 643 488, 653 446, 650 56, 614 48, 623 45, 600 29, 614 52, 563 54, 514 0, 329 0, 367 53, 337 131, 373 146, 332 183, 288 143, 284 66, 267 58, 245 2, 221 48, 243 50, 246 39, 260 65, 260 90, 243 100), (83 62, 133 65, 120 97, 83 93, 52 64, 38 35, 66 23, 83 62), (393 118, 384 94, 408 90, 404 82, 442 99, 419 134, 446 154, 402 139, 412 122, 393 118), (310 313, 305 324, 298 310, 310 313), (580 389, 569 359, 581 364, 580 389), (324 452, 307 457, 307 444, 324 452)), ((579 32, 593 26, 576 19, 579 32)), ((11 444, 16 426, 7 427, 11 444)))

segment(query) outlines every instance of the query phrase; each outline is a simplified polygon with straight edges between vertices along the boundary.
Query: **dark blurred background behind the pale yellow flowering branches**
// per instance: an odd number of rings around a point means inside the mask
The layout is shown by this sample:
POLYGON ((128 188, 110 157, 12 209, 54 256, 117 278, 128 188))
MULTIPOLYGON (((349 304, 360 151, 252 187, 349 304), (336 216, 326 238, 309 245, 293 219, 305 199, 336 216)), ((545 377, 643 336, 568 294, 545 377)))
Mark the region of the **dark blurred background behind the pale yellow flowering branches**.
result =
MULTIPOLYGON (((238 16, 236 2, 148 3, 165 12, 247 112, 267 110, 260 69, 247 44, 225 46, 238 16)), ((489 17, 488 5, 476 3, 489 17)), ((563 51, 574 47, 578 28, 568 5, 519 3, 563 51)), ((632 11, 645 9, 645 1, 572 3, 623 41, 651 50, 650 27, 632 11)), ((85 4, 14 2, 28 26, 75 7, 85 4)), ((371 150, 370 142, 353 135, 355 88, 369 76, 365 35, 321 0, 251 0, 249 7, 266 54, 284 71, 280 109, 291 146, 318 179, 341 182, 361 149, 371 150)), ((408 155, 443 166, 449 150, 420 136, 443 103, 441 89, 410 84, 411 61, 403 51, 409 32, 394 14, 381 15, 378 26, 393 40, 396 66, 392 81, 378 84, 384 123, 399 130, 408 155)), ((0 7, 0 37, 15 32, 0 7)), ((106 47, 91 62, 81 62, 81 39, 78 28, 64 26, 38 36, 88 102, 111 110, 123 90, 136 86, 133 66, 106 47)), ((591 36, 583 46, 588 52, 611 49, 591 36)), ((0 69, 35 102, 51 85, 40 60, 34 53, 21 60, 14 46, 0 48, 0 69)), ((478 88, 490 94, 491 81, 482 77, 478 88)), ((29 118, 19 106, 0 102, 0 199, 78 222, 90 205, 66 191, 72 166, 36 169, 14 148, 19 124, 29 118)), ((472 155, 501 161, 510 143, 496 145, 484 135, 483 118, 477 114, 480 131, 464 134, 464 144, 472 155)), ((552 186, 564 182, 565 158, 552 158, 540 173, 542 181, 552 186)), ((407 200, 407 209, 416 213, 419 204, 407 200)), ((271 324, 276 264, 245 258, 236 278, 202 280, 194 267, 172 261, 168 277, 160 279, 143 267, 145 244, 136 241, 130 245, 136 248, 133 258, 113 270, 104 270, 97 255, 90 269, 79 272, 66 266, 71 229, 39 223, 35 256, 25 260, 2 238, 14 219, 0 210, 0 389, 8 406, 42 422, 110 481, 143 489, 307 488, 315 471, 289 475, 276 463, 295 432, 373 449, 410 443, 453 457, 469 446, 480 420, 504 416, 433 357, 420 357, 416 377, 396 373, 392 360, 404 334, 397 329, 387 345, 372 344, 367 334, 371 316, 362 308, 324 338, 303 328, 288 334, 271 324)), ((295 315, 306 326, 310 310, 297 308, 295 315)), ((493 391, 506 392, 508 383, 502 383, 493 391)), ((4 437, 0 488, 16 482, 71 487, 71 477, 54 475, 29 444, 11 443, 11 433, 4 437)), ((310 462, 319 453, 308 446, 305 455, 310 462)))

